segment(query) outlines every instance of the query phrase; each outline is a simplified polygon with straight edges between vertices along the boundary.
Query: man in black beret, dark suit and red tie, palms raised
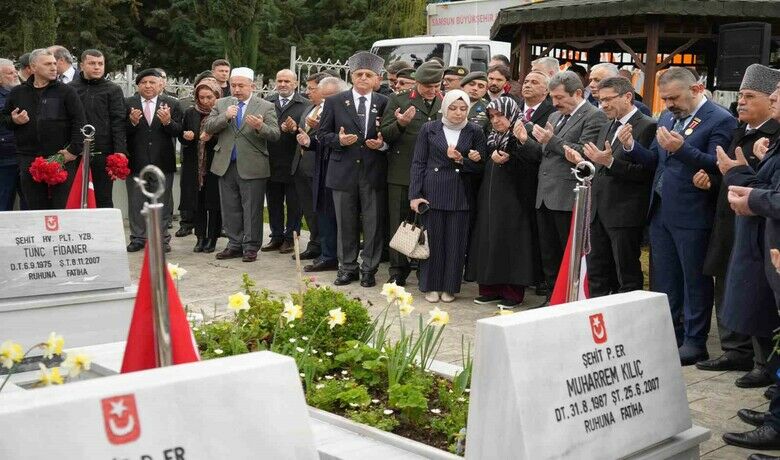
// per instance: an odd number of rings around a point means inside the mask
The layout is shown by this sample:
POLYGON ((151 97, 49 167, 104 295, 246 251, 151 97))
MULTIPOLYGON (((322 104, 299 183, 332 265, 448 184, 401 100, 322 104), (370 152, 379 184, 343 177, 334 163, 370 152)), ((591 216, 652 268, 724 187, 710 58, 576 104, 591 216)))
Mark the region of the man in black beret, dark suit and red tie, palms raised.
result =
MULTIPOLYGON (((173 175, 176 172, 176 137, 181 134, 182 113, 179 101, 164 94, 158 94, 161 85, 160 73, 146 69, 138 73, 135 84, 138 92, 128 97, 127 152, 130 157, 130 171, 133 177, 147 166, 155 165, 165 174, 165 193, 160 198, 165 208, 172 203, 173 175)), ((130 244, 128 252, 140 251, 146 245, 146 223, 141 215, 146 197, 132 178, 125 181, 128 197, 128 220, 130 221, 130 244)), ((171 210, 165 209, 162 231, 165 235, 165 251, 171 246, 168 241, 168 224, 171 210)))

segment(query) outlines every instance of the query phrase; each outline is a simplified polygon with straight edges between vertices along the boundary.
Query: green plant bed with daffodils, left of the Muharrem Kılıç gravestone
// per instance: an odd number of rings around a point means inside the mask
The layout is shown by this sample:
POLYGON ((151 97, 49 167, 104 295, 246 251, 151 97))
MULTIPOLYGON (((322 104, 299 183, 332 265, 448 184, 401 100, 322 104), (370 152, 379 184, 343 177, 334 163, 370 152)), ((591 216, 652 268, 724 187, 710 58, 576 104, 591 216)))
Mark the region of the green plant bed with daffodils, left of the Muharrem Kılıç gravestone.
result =
POLYGON ((235 315, 193 326, 204 359, 258 350, 289 355, 310 406, 462 454, 469 347, 463 344, 464 371, 452 381, 428 370, 446 312, 432 310, 427 322, 419 315, 417 328, 407 330, 401 317, 411 314, 412 299, 395 285, 383 288, 388 307, 374 320, 359 300, 329 287, 310 285, 303 294, 275 298, 245 274, 242 289, 236 296, 246 302, 235 315), (389 337, 394 326, 398 339, 389 337))

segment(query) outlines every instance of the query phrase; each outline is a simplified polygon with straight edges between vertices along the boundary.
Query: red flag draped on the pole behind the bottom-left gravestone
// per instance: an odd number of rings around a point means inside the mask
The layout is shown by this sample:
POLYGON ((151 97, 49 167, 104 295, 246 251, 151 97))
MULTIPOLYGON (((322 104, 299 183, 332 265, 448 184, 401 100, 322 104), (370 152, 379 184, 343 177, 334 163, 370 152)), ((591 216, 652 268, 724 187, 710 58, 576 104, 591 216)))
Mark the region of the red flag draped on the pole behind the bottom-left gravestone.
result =
MULTIPOLYGON (((181 305, 176 285, 164 267, 168 284, 168 314, 171 325, 171 346, 173 363, 183 364, 199 361, 200 355, 195 338, 187 322, 187 314, 181 305)), ((152 317, 152 286, 149 279, 149 249, 144 251, 144 263, 141 266, 141 279, 138 281, 138 295, 133 307, 133 319, 127 335, 125 356, 122 361, 122 373, 153 369, 157 367, 154 346, 154 319, 152 317)))

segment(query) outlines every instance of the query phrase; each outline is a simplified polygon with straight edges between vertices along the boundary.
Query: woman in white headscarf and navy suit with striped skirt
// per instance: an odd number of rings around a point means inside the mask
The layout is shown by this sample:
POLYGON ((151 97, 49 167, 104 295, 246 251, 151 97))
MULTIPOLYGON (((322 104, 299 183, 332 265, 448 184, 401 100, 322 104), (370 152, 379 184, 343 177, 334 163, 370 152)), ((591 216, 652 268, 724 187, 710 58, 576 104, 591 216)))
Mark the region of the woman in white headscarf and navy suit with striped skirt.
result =
POLYGON ((469 123, 471 102, 461 90, 448 91, 442 119, 420 129, 412 160, 409 200, 428 231, 431 255, 420 261, 420 291, 428 302, 452 302, 460 292, 469 233, 468 186, 479 174, 485 135, 469 123))

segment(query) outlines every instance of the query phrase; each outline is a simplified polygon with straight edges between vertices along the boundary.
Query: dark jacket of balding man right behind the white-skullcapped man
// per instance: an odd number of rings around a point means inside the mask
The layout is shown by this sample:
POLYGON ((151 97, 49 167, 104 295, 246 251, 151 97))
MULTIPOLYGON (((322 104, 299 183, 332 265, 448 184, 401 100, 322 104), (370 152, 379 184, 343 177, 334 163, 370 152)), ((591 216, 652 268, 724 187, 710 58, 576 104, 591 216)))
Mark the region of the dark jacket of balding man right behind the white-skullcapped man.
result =
MULTIPOLYGON (((311 110, 311 102, 301 96, 300 93, 294 93, 290 96, 290 100, 284 108, 279 105, 279 94, 272 94, 265 100, 274 105, 276 119, 279 121, 280 126, 287 117, 291 117, 296 123, 299 123, 301 117, 311 110)), ((282 132, 279 140, 268 143, 268 162, 271 165, 271 177, 269 179, 272 182, 292 182, 292 163, 295 152, 298 149, 297 134, 297 131, 292 133, 282 132)))

